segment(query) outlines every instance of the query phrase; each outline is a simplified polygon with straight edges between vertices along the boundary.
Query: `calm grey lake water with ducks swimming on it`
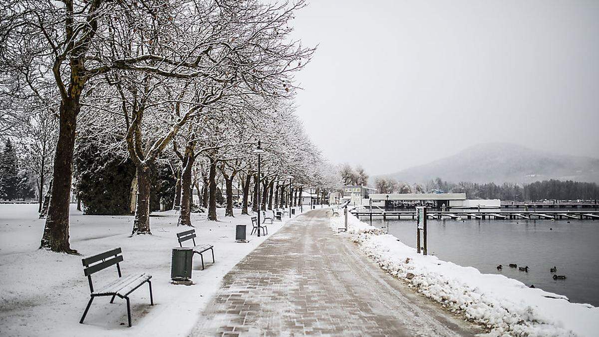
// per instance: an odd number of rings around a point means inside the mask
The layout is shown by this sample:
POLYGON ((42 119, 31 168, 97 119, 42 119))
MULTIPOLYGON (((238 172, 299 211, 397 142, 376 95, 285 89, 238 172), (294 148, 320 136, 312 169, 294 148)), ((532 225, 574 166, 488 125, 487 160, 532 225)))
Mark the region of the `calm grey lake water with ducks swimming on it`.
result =
MULTIPOLYGON (((361 217, 369 222, 367 217, 361 217)), ((428 220, 428 253, 444 261, 501 273, 534 284, 571 302, 599 306, 599 221, 591 220, 428 220), (528 273, 508 264, 528 266, 528 273), (503 270, 497 266, 503 264, 503 270), (550 267, 567 279, 554 280, 550 267)), ((406 245, 416 247, 416 222, 373 218, 406 245)))

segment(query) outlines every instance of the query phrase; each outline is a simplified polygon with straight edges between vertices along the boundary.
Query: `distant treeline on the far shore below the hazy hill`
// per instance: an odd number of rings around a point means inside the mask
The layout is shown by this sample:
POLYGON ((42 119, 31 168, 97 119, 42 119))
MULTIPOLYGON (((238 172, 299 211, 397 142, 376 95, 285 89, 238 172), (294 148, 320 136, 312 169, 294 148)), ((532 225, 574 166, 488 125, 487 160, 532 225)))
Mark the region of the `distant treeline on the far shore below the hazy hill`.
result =
POLYGON ((594 182, 572 180, 543 180, 528 184, 446 182, 441 178, 429 180, 423 185, 409 185, 392 178, 377 178, 375 187, 379 193, 463 192, 469 199, 501 199, 513 201, 536 200, 595 200, 599 199, 599 186, 594 182))

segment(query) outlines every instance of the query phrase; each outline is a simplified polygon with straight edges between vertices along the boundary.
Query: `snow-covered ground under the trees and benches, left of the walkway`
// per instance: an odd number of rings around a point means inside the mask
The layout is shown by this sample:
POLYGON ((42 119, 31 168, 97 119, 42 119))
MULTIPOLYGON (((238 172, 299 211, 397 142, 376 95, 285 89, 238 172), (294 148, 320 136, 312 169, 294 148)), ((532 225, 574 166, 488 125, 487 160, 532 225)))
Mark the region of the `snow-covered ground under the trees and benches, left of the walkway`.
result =
MULTIPOLYGON (((38 249, 44 221, 37 219, 36 204, 0 204, 0 336, 186 335, 223 276, 268 237, 250 237, 250 218, 239 212, 235 209, 234 218, 225 218, 219 209, 218 222, 205 221, 205 214, 192 215, 196 243, 213 244, 216 263, 208 252, 206 269, 201 270, 196 255, 194 284, 187 286, 170 283, 171 249, 179 246, 176 233, 188 229, 177 227, 174 211, 152 214, 152 236, 129 237, 132 216, 81 215, 72 205, 71 248, 82 255, 75 256, 38 249), (248 225, 249 243, 235 243, 236 224, 248 225), (109 297, 95 299, 85 324, 79 324, 89 300, 81 258, 117 247, 123 249, 123 276, 139 272, 153 276, 155 305, 150 306, 144 285, 131 294, 131 328, 126 326, 125 301, 117 298, 110 304, 109 297)), ((268 233, 284 223, 269 224, 268 233)), ((92 279, 98 288, 116 277, 116 267, 110 267, 92 279)))

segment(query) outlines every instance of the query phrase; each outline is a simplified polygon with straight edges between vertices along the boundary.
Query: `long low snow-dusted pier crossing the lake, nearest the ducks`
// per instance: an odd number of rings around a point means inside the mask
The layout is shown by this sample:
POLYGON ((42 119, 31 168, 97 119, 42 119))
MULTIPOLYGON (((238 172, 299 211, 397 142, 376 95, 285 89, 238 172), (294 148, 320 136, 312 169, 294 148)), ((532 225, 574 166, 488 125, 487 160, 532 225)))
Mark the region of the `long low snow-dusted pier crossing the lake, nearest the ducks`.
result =
MULTIPOLYGON (((416 219, 416 210, 398 210, 388 212, 368 212, 364 210, 351 210, 355 216, 367 216, 372 218, 383 219, 416 219)), ((503 210, 500 212, 470 212, 470 211, 446 211, 436 212, 430 210, 428 213, 429 219, 495 219, 495 220, 512 220, 512 219, 576 219, 576 220, 595 220, 599 219, 599 210, 543 210, 543 211, 527 211, 521 210, 503 210)))

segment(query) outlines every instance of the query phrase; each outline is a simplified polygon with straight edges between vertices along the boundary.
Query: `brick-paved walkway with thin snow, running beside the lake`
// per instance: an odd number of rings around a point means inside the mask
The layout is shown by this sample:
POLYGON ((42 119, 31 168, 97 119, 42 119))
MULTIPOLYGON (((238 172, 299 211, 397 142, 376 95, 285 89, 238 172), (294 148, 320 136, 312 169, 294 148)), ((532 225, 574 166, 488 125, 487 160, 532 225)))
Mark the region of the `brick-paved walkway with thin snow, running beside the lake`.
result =
POLYGON ((325 210, 313 210, 289 221, 225 276, 191 335, 480 332, 383 272, 334 235, 325 210))

